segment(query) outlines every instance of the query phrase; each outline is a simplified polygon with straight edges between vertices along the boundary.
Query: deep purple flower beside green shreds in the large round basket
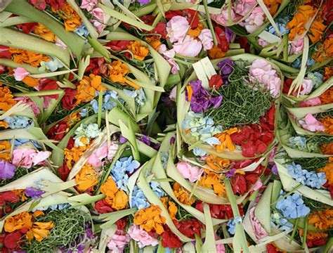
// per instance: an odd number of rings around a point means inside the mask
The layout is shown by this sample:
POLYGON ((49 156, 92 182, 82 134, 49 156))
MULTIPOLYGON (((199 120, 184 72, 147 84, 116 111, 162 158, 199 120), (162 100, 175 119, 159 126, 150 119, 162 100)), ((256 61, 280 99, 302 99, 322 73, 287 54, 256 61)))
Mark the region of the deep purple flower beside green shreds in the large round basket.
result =
MULTIPOLYGON (((221 105, 223 96, 213 97, 211 94, 202 87, 200 80, 190 82, 192 88, 192 98, 190 100, 191 109, 193 112, 206 112, 208 108, 214 106, 218 108, 221 105)), ((186 93, 186 100, 188 100, 188 92, 186 93)))

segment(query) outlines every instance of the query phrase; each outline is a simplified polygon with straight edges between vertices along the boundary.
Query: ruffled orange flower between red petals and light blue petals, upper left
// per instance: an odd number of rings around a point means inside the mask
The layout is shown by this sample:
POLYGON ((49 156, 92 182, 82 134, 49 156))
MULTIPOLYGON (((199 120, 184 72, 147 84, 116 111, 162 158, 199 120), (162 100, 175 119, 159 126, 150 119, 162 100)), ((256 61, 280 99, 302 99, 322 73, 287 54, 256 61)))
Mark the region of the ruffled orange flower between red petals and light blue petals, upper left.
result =
POLYGON ((89 74, 89 77, 83 77, 77 86, 77 105, 82 102, 89 102, 96 97, 96 91, 106 91, 106 88, 102 84, 102 77, 89 74))

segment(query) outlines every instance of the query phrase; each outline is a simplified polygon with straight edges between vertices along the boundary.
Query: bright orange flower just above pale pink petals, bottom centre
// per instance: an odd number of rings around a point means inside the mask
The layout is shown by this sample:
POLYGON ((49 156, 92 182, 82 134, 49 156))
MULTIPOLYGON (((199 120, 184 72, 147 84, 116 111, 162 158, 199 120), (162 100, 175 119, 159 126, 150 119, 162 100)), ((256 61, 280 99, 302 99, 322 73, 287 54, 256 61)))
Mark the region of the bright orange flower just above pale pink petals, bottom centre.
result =
POLYGON ((161 216, 162 210, 155 205, 140 209, 134 214, 134 224, 141 226, 145 231, 155 231, 158 235, 164 232, 165 218, 161 216))

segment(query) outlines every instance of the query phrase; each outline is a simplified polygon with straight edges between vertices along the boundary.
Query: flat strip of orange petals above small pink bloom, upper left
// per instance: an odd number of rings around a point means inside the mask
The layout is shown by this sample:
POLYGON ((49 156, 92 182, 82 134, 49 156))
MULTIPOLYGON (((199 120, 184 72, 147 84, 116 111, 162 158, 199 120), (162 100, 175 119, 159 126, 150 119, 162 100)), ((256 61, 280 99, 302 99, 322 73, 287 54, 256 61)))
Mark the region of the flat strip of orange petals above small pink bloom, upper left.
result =
POLYGON ((44 56, 41 53, 35 53, 32 51, 27 51, 19 48, 9 48, 9 52, 13 54, 14 63, 28 63, 33 67, 39 67, 42 60, 49 61, 48 56, 44 56))

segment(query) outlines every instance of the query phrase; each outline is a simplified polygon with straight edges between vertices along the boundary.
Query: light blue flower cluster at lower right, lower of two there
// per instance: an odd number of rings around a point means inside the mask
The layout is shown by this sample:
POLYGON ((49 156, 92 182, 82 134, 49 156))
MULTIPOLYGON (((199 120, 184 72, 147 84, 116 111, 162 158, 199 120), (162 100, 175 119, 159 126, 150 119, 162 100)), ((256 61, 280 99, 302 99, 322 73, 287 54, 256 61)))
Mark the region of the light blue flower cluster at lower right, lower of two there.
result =
POLYGON ((294 193, 280 200, 276 204, 276 209, 278 209, 286 219, 301 218, 310 212, 310 208, 304 205, 299 193, 294 193))

